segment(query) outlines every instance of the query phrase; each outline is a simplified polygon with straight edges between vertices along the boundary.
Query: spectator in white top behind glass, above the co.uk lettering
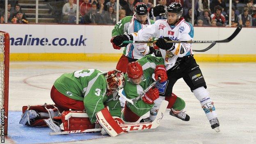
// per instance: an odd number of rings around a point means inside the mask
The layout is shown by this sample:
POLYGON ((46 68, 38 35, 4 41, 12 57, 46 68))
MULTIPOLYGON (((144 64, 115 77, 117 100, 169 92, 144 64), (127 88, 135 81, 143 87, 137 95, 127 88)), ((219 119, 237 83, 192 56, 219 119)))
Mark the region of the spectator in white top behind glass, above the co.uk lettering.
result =
POLYGON ((74 0, 69 0, 62 8, 63 21, 67 23, 75 23, 76 5, 74 0))

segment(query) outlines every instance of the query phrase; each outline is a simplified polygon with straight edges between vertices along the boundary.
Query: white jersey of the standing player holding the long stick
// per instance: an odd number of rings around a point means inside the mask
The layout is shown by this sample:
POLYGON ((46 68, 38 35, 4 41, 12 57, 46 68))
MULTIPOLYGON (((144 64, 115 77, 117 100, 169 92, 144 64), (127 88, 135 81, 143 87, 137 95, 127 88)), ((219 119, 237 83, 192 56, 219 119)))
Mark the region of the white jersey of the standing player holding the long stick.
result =
MULTIPOLYGON (((155 21, 137 33, 132 33, 134 41, 147 41, 150 37, 169 37, 173 41, 190 41, 194 37, 194 27, 181 18, 176 25, 169 25, 167 19, 155 21)), ((165 67, 171 69, 178 57, 192 55, 191 43, 175 43, 174 50, 162 50, 165 59, 165 67)))

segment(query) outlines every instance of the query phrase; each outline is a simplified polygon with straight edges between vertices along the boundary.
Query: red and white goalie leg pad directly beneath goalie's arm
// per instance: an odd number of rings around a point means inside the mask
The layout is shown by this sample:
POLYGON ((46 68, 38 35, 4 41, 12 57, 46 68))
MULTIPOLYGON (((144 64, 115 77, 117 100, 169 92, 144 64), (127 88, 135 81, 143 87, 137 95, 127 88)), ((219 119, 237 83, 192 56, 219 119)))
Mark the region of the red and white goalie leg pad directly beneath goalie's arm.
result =
POLYGON ((95 128, 95 123, 91 123, 84 111, 64 111, 61 114, 61 121, 60 128, 64 131, 95 128))

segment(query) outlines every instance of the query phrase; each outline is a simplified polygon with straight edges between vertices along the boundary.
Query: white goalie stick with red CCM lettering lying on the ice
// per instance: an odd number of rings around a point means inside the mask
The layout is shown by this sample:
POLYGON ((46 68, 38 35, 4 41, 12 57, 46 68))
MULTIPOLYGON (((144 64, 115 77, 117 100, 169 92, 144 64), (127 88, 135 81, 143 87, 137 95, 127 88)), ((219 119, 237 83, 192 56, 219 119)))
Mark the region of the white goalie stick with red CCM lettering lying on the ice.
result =
MULTIPOLYGON (((154 129, 157 128, 160 125, 160 121, 163 118, 163 115, 165 113, 165 110, 167 108, 168 101, 163 100, 159 110, 158 114, 156 115, 156 118, 152 122, 146 122, 146 123, 126 123, 119 125, 124 131, 132 131, 132 130, 146 130, 146 129, 154 129)), ((63 132, 57 132, 57 133, 50 133, 50 135, 66 135, 66 134, 73 134, 73 133, 97 133, 101 132, 101 128, 94 128, 94 129, 87 129, 87 130, 72 130, 72 131, 63 131, 63 132)), ((126 132, 123 132, 121 134, 124 134, 126 132)))

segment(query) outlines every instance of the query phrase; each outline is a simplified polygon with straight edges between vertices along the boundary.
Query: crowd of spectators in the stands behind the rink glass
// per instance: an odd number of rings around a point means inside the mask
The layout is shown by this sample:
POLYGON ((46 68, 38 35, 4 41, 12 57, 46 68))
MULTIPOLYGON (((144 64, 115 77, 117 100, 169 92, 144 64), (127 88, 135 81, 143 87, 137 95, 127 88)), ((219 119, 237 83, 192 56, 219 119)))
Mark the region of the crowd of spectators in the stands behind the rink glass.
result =
MULTIPOLYGON (((5 23, 4 1, 0 0, 0 23, 5 23)), ((77 9, 76 0, 46 0, 51 1, 54 8, 59 7, 59 21, 57 23, 76 23, 76 11, 79 10, 80 24, 114 25, 117 22, 116 0, 79 0, 77 9), (54 2, 53 2, 54 1, 54 2), (62 5, 57 5, 62 2, 62 5), (57 6, 56 6, 57 5, 57 6)), ((256 0, 232 0, 231 26, 256 26, 256 0)), ((134 5, 144 2, 153 7, 153 0, 119 0, 119 20, 125 16, 133 16, 134 5)), ((192 23, 192 0, 157 0, 157 5, 167 6, 171 2, 181 3, 184 7, 184 18, 192 23)), ((195 26, 227 26, 229 25, 229 0, 195 0, 194 3, 195 26)), ((28 23, 21 6, 8 3, 7 23, 28 23)), ((156 19, 164 18, 158 16, 156 19)))

